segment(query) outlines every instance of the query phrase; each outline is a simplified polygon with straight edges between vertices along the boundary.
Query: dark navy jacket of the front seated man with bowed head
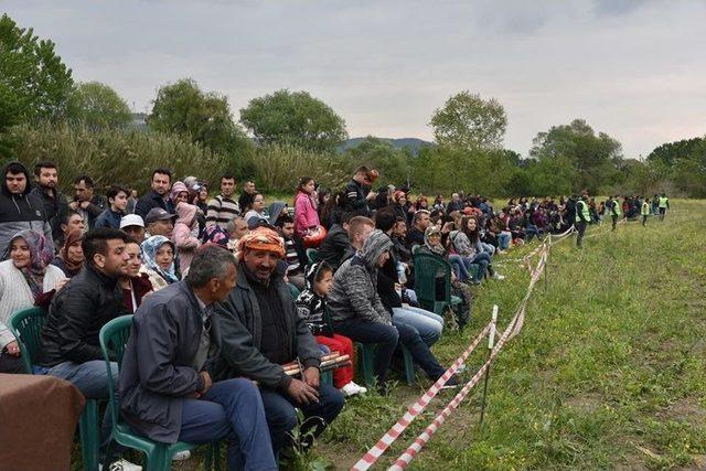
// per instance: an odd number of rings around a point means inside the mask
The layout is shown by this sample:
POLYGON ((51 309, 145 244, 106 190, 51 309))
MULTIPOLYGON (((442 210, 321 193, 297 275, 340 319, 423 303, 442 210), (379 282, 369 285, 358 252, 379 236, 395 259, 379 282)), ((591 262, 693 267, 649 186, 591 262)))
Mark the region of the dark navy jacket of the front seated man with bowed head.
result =
MULTIPOLYGON (((211 361, 221 338, 216 318, 211 315, 211 361)), ((193 367, 202 331, 201 308, 186 281, 157 291, 138 308, 122 356, 119 396, 124 417, 139 433, 164 443, 179 438, 183 400, 203 388, 193 367)))

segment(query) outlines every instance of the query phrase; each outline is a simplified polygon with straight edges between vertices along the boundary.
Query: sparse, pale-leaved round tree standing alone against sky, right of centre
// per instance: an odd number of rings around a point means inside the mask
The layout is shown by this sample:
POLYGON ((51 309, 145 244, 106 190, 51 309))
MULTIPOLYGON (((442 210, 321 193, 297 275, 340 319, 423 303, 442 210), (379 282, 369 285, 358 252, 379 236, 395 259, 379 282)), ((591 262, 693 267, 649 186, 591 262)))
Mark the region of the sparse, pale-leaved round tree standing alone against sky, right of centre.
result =
POLYGON ((435 110, 429 124, 439 146, 490 150, 502 147, 507 117, 495 98, 463 90, 435 110))

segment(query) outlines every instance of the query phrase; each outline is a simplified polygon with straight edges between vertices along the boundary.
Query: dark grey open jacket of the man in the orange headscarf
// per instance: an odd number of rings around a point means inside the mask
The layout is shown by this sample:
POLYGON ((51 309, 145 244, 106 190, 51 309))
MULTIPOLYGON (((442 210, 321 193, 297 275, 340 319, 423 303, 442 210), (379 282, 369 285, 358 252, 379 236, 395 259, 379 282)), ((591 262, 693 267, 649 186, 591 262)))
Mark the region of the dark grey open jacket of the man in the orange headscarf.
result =
MULTIPOLYGON (((304 367, 321 363, 321 351, 315 339, 299 318, 295 300, 281 275, 275 272, 270 278, 282 306, 285 329, 288 343, 281 345, 285 355, 299 361, 304 367)), ((254 289, 243 268, 238 268, 238 282, 217 311, 221 322, 221 357, 224 370, 216 372, 214 379, 245 376, 257 381, 265 387, 286 388, 291 378, 285 374, 281 365, 271 363, 261 353, 263 325, 259 306, 254 289)))

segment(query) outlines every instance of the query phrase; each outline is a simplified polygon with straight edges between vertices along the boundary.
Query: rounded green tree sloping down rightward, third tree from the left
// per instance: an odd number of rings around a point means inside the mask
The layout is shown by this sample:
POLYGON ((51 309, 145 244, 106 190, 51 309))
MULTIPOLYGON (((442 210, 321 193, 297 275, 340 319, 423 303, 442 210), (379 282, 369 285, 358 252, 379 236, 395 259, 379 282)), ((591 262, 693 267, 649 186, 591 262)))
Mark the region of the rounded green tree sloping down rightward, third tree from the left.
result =
POLYGON ((239 153, 248 148, 247 137, 233 121, 228 99, 202 92, 191 78, 162 86, 147 122, 151 129, 189 136, 216 152, 239 153))

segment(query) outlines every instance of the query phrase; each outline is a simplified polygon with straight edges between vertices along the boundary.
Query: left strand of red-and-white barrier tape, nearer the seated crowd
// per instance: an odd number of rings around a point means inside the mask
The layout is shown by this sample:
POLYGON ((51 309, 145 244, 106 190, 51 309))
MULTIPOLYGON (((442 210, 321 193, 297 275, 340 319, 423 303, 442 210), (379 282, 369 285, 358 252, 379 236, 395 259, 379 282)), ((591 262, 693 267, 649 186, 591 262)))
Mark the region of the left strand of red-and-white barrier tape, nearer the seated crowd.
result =
POLYGON ((397 420, 397 424, 395 424, 389 430, 387 430, 387 433, 385 433, 379 440, 377 440, 377 443, 375 443, 375 446, 367 450, 363 458, 361 458, 351 468, 351 470, 367 470, 375 463, 375 461, 377 461, 377 459, 385 452, 385 450, 387 450, 387 448, 389 448, 389 446, 397 439, 397 437, 399 437, 399 435, 407 429, 409 424, 411 424, 411 421, 419 414, 421 414, 424 409, 426 409, 426 407, 429 405, 429 402, 439 393, 439 390, 441 390, 441 387, 446 384, 447 381, 449 381, 451 375, 453 375, 458 371, 458 368, 461 366, 461 363, 463 363, 466 358, 468 358, 468 356, 473 352, 473 350, 475 350, 481 340, 483 340, 488 332, 490 332, 491 325, 492 322, 489 322, 483 331, 479 333, 473 342, 468 346, 468 349, 466 349, 461 356, 459 356, 456 362, 453 362, 453 364, 443 373, 443 375, 441 375, 441 377, 437 379, 437 382, 421 397, 419 397, 415 402, 415 404, 409 406, 407 413, 405 413, 405 415, 399 420, 397 420))

